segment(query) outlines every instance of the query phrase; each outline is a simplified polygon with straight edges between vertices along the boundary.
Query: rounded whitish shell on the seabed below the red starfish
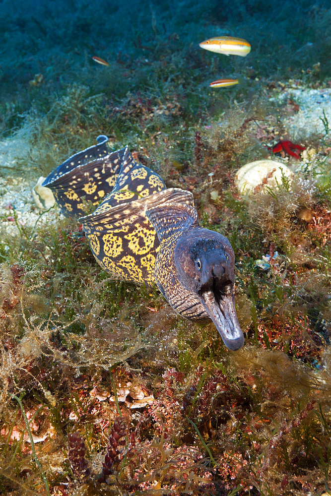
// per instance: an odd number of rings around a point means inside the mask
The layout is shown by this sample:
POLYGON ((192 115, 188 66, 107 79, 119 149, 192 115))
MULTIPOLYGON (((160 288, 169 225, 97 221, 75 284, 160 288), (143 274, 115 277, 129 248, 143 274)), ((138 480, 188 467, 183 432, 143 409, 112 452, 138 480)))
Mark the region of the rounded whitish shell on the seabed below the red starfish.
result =
POLYGON ((237 171, 235 184, 242 194, 261 191, 265 185, 277 186, 277 182, 281 184, 282 173, 289 180, 294 177, 293 172, 281 162, 257 160, 244 165, 237 171))

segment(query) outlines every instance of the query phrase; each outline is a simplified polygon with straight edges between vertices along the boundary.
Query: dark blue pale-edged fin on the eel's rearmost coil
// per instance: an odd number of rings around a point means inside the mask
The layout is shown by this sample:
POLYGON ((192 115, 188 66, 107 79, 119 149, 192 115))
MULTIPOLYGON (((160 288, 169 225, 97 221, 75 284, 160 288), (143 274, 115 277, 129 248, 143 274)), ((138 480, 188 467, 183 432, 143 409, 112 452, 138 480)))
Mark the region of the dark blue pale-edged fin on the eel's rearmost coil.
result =
POLYGON ((106 135, 101 134, 98 136, 98 143, 96 145, 89 146, 88 148, 85 148, 85 150, 81 150, 80 152, 69 157, 47 176, 43 186, 48 186, 63 174, 66 174, 80 165, 84 165, 92 160, 101 159, 102 157, 108 155, 111 150, 107 144, 107 141, 108 137, 106 135))

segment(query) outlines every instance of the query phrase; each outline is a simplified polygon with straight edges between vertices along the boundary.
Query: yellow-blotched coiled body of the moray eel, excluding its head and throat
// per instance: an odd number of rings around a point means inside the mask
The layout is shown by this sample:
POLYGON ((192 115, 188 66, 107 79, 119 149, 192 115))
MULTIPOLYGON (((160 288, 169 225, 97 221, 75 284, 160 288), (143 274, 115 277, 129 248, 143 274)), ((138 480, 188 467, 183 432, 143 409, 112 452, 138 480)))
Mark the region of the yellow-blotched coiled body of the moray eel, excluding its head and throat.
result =
MULTIPOLYGON (((154 171, 136 163, 128 147, 111 152, 108 138, 98 138, 97 145, 61 164, 43 186, 52 189, 64 214, 81 214, 91 203, 97 206, 80 221, 98 263, 119 279, 153 286, 160 243, 146 210, 160 202, 172 204, 179 193, 167 190, 154 171)), ((183 195, 190 196, 180 193, 181 201, 183 195)), ((160 221, 164 231, 171 227, 172 209, 160 221)))

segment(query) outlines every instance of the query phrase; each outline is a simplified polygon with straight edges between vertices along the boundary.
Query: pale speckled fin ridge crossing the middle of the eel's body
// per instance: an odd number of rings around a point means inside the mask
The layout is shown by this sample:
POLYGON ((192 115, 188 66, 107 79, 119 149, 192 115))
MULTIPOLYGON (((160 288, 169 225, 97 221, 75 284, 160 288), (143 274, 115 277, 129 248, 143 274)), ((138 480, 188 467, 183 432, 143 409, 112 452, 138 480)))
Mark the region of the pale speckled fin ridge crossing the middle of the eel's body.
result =
POLYGON ((189 191, 180 188, 163 189, 138 200, 129 201, 98 212, 98 209, 90 215, 79 219, 86 232, 95 231, 103 235, 109 229, 118 229, 121 226, 135 223, 136 220, 147 220, 146 210, 158 207, 167 202, 175 202, 193 205, 193 195, 189 191))

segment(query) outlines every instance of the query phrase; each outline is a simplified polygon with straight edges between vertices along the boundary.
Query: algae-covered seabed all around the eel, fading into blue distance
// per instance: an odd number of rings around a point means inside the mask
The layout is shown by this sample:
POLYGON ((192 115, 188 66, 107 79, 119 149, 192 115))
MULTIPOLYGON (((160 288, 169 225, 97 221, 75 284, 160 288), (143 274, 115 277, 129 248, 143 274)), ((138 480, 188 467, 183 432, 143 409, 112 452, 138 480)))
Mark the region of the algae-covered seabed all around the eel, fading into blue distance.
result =
POLYGON ((328 4, 2 4, 1 132, 27 152, 1 169, 0 493, 331 494, 328 109, 321 132, 288 130, 303 106, 288 88, 330 89, 328 4), (251 53, 199 49, 222 35, 251 53), (243 82, 209 88, 224 72, 243 82), (229 239, 241 350, 102 270, 76 217, 2 204, 100 134, 229 239), (268 147, 293 179, 240 193, 268 147))

